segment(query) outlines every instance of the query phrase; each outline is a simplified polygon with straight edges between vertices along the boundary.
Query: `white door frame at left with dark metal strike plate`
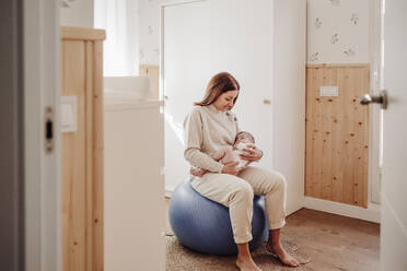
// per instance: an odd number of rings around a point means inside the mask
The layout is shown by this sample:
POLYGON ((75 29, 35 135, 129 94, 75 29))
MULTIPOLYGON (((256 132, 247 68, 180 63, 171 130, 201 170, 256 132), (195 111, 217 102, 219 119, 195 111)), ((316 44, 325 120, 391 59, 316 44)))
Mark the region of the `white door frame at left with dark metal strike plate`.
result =
POLYGON ((24 52, 25 269, 60 271, 60 38, 55 0, 22 0, 24 52), (46 152, 47 117, 54 119, 54 150, 46 152))

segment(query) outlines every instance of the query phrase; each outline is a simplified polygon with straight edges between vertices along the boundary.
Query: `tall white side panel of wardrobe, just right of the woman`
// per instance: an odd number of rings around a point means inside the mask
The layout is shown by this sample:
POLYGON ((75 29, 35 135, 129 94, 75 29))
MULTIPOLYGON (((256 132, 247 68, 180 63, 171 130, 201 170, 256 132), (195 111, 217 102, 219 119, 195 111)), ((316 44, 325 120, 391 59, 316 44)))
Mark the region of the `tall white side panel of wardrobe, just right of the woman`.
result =
POLYGON ((272 165, 287 178, 292 213, 304 196, 306 7, 303 0, 274 2, 272 165))

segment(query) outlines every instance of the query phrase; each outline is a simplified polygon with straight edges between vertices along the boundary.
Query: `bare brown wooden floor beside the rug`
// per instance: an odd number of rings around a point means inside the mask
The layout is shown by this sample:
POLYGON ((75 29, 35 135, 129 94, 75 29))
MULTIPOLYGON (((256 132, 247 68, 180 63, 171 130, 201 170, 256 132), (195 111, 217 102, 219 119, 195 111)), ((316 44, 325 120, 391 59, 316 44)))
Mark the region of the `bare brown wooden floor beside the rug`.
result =
MULTIPOLYGON (((165 201, 165 223, 168 199, 165 201)), ((311 257, 307 271, 374 271, 379 268, 380 225, 376 223, 301 209, 287 219, 289 234, 311 257)))

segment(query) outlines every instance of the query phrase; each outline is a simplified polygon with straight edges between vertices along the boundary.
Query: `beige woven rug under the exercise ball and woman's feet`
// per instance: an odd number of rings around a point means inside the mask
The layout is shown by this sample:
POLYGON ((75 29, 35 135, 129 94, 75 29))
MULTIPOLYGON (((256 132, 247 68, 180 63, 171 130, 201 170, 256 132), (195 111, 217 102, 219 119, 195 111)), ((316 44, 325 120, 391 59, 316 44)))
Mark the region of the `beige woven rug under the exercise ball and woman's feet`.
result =
MULTIPOLYGON (((210 256, 194 252, 193 250, 184 247, 171 231, 166 234, 166 271, 236 271, 235 256, 210 256)), ((283 267, 281 262, 268 255, 264 246, 259 246, 252 251, 252 256, 256 264, 263 271, 300 271, 306 270, 307 262, 311 261, 310 257, 301 251, 298 246, 290 240, 290 236, 284 236, 281 240, 286 250, 291 254, 299 262, 300 267, 289 268, 283 267)))

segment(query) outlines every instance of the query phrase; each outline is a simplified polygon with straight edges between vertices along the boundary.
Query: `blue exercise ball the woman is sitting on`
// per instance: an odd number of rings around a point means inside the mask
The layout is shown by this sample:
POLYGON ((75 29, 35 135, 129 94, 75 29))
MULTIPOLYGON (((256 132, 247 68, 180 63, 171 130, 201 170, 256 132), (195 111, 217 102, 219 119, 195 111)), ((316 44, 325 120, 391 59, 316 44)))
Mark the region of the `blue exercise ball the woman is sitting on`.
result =
MULTIPOLYGON (((208 255, 236 255, 229 208, 195 191, 190 180, 178 185, 170 201, 170 224, 179 243, 194 251, 208 255)), ((249 249, 268 236, 264 197, 253 200, 249 249)))

